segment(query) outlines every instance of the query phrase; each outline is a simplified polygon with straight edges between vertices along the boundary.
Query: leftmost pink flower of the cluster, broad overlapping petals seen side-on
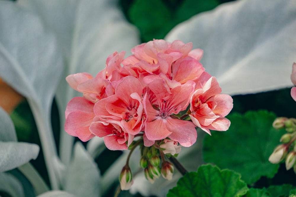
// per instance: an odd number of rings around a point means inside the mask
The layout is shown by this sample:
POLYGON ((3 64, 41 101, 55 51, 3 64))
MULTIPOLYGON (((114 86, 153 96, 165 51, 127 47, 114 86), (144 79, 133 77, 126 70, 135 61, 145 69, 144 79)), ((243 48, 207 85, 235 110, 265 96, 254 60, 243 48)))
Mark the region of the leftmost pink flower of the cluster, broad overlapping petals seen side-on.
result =
POLYGON ((94 103, 83 97, 74 97, 67 105, 65 111, 65 131, 81 141, 88 141, 95 135, 89 130, 93 122, 94 103))

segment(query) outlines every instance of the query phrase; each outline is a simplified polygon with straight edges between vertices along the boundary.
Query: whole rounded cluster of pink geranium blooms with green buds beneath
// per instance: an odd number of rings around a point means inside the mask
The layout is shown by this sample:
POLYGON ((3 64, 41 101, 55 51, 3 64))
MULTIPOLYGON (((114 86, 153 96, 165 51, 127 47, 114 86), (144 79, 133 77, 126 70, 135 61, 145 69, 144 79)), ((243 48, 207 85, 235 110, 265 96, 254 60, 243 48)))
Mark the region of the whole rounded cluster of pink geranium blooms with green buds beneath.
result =
MULTIPOLYGON (((180 40, 153 40, 131 52, 127 58, 125 52, 111 54, 95 77, 88 73, 67 76, 70 86, 83 93, 67 105, 67 133, 82 141, 103 137, 110 150, 128 149, 140 136, 145 147, 154 145, 174 155, 181 146, 195 143, 195 127, 209 134, 229 128, 225 116, 233 107, 232 98, 220 94, 216 78, 205 71, 201 49, 192 50, 192 43, 180 40)), ((143 148, 142 154, 148 152, 143 148)), ((160 175, 160 163, 152 165, 150 159, 160 156, 142 156, 148 160, 147 179, 153 180, 160 175)), ((165 161, 162 165, 163 174, 172 172, 171 165, 165 161)))

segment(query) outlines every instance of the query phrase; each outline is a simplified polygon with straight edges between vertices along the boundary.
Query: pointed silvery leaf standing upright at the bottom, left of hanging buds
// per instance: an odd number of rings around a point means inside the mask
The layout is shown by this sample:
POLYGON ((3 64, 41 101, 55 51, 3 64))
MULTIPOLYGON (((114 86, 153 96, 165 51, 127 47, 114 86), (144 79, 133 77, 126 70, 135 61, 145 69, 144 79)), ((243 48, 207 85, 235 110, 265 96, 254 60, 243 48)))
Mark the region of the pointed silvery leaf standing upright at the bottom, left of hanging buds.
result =
POLYGON ((80 142, 75 144, 74 158, 67 168, 64 190, 76 196, 100 195, 98 167, 80 142))

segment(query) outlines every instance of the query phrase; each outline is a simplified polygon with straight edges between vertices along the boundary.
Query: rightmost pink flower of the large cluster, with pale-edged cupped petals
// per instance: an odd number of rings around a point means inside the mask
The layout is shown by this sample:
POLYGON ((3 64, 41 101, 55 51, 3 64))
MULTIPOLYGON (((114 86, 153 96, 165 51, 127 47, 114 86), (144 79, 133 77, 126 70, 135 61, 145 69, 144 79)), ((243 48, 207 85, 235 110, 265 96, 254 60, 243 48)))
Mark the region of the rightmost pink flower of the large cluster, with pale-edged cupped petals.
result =
POLYGON ((190 100, 192 122, 209 134, 210 129, 226 131, 230 126, 230 121, 224 117, 233 107, 232 98, 220 93, 221 87, 216 78, 211 77, 204 86, 198 84, 190 100))

